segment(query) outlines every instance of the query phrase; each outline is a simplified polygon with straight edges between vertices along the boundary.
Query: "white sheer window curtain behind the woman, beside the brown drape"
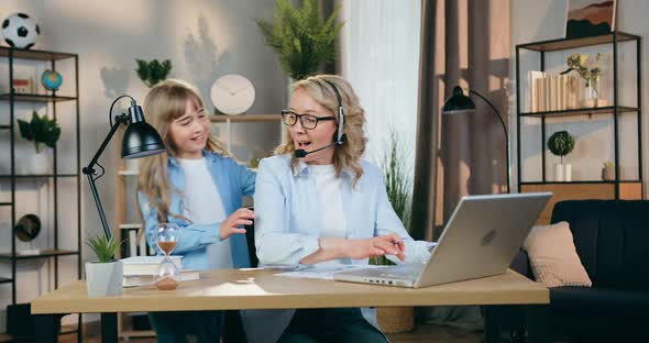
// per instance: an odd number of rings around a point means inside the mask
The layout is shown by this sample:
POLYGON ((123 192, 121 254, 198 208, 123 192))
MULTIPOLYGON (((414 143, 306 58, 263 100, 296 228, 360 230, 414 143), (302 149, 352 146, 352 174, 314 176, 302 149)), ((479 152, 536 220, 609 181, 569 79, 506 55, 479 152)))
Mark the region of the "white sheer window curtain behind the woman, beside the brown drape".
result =
POLYGON ((341 19, 341 74, 365 109, 365 158, 380 163, 394 129, 415 163, 419 84, 419 0, 344 2, 341 19))

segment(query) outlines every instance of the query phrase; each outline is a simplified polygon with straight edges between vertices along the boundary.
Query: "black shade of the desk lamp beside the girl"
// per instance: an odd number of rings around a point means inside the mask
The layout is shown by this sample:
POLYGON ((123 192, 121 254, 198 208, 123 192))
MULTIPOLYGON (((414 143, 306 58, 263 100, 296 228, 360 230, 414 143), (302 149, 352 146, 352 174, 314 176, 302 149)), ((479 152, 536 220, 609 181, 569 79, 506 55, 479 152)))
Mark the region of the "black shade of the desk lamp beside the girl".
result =
POLYGON ((140 158, 165 151, 165 145, 157 131, 144 120, 127 126, 122 139, 122 158, 140 158))

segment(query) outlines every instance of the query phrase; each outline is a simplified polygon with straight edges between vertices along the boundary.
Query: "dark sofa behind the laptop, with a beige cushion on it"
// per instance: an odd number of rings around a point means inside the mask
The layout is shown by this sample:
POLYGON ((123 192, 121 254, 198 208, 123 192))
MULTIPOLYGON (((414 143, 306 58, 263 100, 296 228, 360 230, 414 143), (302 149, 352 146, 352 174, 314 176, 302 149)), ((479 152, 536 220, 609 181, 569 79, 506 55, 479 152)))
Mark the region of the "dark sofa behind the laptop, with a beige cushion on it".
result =
MULTIPOLYGON (((550 289, 550 336, 649 342, 649 201, 562 201, 554 206, 551 219, 560 221, 570 223, 593 287, 550 289)), ((516 256, 512 268, 534 279, 525 252, 516 256)), ((487 330, 524 332, 521 308, 501 307, 491 316, 487 330)))

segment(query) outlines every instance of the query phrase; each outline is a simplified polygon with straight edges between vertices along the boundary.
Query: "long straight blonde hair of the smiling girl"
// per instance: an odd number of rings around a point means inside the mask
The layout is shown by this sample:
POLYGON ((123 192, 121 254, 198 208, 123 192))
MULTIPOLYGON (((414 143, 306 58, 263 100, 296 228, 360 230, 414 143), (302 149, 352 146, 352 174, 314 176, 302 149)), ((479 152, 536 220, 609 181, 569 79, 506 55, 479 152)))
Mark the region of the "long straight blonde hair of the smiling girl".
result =
MULTIPOLYGON (((168 79, 155 85, 144 99, 146 121, 160 133, 167 148, 167 154, 175 156, 176 150, 169 136, 169 124, 185 114, 187 101, 194 101, 204 108, 198 90, 182 80, 168 79)), ((228 156, 228 152, 212 134, 209 135, 206 150, 228 156)), ((157 211, 158 221, 166 221, 167 215, 183 218, 180 213, 170 213, 169 204, 173 185, 168 178, 168 155, 158 154, 140 161, 138 190, 146 196, 148 203, 157 211)))

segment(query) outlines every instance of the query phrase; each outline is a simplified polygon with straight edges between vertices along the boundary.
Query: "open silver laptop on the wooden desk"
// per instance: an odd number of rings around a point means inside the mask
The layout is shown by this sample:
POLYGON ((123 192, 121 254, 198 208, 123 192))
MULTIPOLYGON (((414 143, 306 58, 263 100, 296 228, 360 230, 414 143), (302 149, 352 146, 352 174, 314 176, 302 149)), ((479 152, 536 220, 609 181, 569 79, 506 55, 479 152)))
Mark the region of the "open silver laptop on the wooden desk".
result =
POLYGON ((551 192, 463 197, 428 263, 340 272, 333 279, 419 288, 503 274, 551 197, 551 192))

